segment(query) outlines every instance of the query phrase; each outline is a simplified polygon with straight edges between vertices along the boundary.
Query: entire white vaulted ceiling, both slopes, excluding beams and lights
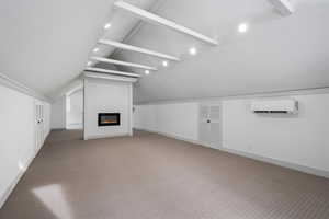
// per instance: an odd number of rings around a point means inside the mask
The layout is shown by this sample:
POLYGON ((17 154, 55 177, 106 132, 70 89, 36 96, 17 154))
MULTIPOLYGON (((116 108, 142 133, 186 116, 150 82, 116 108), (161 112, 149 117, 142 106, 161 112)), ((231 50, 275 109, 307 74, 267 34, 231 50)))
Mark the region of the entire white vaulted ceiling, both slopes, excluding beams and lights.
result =
MULTIPOLYGON (((180 57, 181 61, 98 45, 97 56, 159 70, 143 77, 135 102, 214 97, 329 87, 329 2, 294 0, 282 16, 268 0, 125 0, 218 41, 218 46, 148 23, 114 0, 7 0, 1 3, 0 72, 50 95, 75 80, 100 38, 180 57), (103 25, 111 22, 104 32, 103 25), (237 31, 247 23, 248 32, 237 31), (195 47, 197 54, 189 55, 195 47)), ((97 67, 113 68, 97 64, 97 67)))

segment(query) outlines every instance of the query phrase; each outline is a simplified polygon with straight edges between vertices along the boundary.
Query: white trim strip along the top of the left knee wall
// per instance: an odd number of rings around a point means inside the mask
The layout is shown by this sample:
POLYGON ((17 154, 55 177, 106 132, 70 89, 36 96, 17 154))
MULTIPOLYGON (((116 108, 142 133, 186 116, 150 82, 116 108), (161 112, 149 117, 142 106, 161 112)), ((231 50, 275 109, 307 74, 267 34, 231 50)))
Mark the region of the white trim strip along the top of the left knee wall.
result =
POLYGON ((0 84, 4 85, 7 88, 13 89, 15 91, 19 91, 21 93, 24 93, 26 95, 30 95, 32 97, 49 102, 48 97, 46 97, 45 95, 43 95, 43 94, 25 87, 24 84, 22 84, 18 81, 4 76, 3 73, 0 73, 0 84))

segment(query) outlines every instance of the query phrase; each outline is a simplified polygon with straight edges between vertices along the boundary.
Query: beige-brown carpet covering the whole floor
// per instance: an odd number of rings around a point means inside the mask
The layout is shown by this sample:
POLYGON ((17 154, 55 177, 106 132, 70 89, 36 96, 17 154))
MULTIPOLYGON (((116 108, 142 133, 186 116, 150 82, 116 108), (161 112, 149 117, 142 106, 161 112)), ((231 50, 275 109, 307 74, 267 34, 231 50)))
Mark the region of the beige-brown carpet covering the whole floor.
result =
POLYGON ((328 219, 329 181, 155 134, 53 131, 1 219, 328 219))

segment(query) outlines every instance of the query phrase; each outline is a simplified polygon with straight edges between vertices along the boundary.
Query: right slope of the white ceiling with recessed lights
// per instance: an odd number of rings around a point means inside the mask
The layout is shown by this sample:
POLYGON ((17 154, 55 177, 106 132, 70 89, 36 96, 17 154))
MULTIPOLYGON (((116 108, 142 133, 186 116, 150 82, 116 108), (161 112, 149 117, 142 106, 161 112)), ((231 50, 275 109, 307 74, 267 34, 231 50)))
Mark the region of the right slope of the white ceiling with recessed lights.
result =
POLYGON ((294 3, 296 12, 282 16, 265 0, 167 0, 157 14, 218 38, 219 46, 145 23, 126 43, 183 60, 163 68, 138 54, 113 57, 160 68, 135 84, 136 103, 328 87, 329 2, 294 3), (237 32, 240 22, 250 25, 245 34, 237 32), (188 55, 191 46, 197 56, 188 55))

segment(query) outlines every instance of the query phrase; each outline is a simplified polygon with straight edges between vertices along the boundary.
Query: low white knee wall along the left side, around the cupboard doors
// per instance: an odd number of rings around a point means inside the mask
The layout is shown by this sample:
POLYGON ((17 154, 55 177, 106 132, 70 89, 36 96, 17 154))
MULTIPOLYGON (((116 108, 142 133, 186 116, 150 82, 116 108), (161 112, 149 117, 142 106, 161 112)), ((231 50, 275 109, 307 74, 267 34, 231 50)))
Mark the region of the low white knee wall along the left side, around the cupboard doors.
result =
MULTIPOLYGON (((0 208, 36 154, 34 97, 0 85, 0 208)), ((49 131, 45 103, 45 132, 49 131)))

